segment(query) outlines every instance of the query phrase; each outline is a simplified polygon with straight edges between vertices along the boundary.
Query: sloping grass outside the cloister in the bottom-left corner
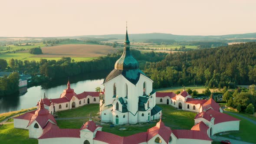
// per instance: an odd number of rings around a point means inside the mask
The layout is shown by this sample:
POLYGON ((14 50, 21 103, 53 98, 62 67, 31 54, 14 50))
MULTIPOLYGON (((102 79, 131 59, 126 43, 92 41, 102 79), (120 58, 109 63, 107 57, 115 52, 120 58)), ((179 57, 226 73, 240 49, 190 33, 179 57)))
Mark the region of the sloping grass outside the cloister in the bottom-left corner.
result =
POLYGON ((0 127, 1 144, 38 144, 36 139, 29 138, 29 131, 14 128, 13 124, 4 124, 0 127))

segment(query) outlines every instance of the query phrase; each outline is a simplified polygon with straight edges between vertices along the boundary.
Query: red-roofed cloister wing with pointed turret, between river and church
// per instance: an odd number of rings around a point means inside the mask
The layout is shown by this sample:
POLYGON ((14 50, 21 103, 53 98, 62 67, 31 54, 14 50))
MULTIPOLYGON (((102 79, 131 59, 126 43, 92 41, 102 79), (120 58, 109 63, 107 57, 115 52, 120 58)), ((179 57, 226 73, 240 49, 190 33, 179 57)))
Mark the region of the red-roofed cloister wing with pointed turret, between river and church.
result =
MULTIPOLYGON (((74 89, 70 87, 70 82, 67 83, 67 88, 63 90, 59 98, 43 98, 45 107, 50 114, 56 111, 64 111, 71 108, 77 108, 87 104, 99 103, 99 95, 103 92, 82 92, 76 94, 74 89)), ((39 105, 39 104, 37 104, 39 105)))

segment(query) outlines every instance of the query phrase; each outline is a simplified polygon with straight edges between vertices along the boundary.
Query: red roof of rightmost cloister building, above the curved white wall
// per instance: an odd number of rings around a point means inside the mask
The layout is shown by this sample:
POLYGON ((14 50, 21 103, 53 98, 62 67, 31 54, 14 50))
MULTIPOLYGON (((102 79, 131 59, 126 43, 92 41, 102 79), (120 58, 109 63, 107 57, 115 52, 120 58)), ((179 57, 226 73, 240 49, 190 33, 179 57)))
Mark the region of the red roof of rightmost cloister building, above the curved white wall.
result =
POLYGON ((207 121, 210 121, 211 118, 214 118, 214 124, 218 124, 226 121, 240 121, 240 119, 233 118, 230 115, 221 113, 219 111, 214 111, 213 109, 208 109, 207 111, 202 111, 196 115, 195 119, 204 118, 207 121))

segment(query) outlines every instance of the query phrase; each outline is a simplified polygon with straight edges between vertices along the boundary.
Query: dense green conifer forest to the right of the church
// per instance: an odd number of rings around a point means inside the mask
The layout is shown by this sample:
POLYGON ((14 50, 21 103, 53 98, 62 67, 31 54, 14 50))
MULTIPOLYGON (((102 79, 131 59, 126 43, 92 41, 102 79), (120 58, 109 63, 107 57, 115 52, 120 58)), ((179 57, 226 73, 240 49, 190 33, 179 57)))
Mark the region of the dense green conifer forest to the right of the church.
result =
POLYGON ((175 52, 161 62, 147 62, 144 72, 154 81, 154 88, 251 85, 256 83, 256 43, 175 52))

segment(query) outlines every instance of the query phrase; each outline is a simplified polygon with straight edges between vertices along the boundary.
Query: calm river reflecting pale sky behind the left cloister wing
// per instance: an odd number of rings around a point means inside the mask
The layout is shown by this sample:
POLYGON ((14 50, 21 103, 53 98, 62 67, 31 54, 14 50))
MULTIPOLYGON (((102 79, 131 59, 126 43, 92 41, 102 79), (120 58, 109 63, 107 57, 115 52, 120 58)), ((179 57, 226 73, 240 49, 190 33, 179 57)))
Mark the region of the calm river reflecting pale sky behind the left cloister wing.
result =
MULTIPOLYGON (((94 92, 96 87, 103 89, 102 83, 107 75, 108 71, 70 77, 70 87, 74 89, 76 94, 84 91, 94 92)), ((44 92, 48 98, 59 98, 63 90, 67 88, 67 81, 68 78, 52 80, 40 86, 28 88, 23 95, 0 98, 0 113, 35 107, 36 102, 43 97, 44 92)))

